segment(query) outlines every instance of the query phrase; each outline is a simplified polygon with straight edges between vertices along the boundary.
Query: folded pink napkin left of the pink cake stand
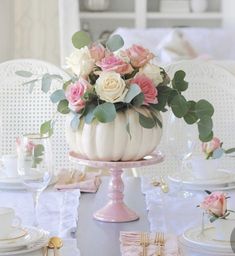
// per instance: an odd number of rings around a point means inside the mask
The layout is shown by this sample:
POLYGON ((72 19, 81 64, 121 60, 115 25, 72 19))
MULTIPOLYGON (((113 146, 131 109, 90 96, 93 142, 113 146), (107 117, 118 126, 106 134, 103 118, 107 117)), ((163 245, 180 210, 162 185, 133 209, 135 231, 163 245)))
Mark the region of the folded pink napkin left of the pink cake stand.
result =
POLYGON ((81 192, 95 193, 100 184, 101 172, 81 172, 79 170, 68 171, 62 169, 58 175, 56 189, 80 189, 81 192))

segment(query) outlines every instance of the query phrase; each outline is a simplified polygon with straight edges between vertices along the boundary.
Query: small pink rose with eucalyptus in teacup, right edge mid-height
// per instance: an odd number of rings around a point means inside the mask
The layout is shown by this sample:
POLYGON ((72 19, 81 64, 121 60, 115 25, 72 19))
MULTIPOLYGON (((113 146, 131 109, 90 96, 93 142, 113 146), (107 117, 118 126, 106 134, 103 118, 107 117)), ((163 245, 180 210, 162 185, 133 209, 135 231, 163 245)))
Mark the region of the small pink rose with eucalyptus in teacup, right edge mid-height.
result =
POLYGON ((219 138, 214 137, 209 142, 202 143, 202 152, 205 154, 206 159, 220 158, 223 154, 231 154, 235 152, 235 148, 223 149, 223 142, 219 138))

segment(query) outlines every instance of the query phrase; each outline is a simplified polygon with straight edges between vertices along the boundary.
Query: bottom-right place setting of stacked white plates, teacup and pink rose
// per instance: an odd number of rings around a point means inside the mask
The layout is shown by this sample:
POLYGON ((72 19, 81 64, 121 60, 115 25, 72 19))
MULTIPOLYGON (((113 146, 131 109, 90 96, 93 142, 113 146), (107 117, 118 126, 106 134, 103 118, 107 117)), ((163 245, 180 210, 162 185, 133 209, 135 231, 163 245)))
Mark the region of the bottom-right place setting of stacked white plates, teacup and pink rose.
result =
POLYGON ((235 213, 227 209, 230 197, 220 191, 207 191, 207 194, 198 205, 203 210, 201 225, 187 228, 179 236, 179 242, 185 251, 234 255, 235 213))

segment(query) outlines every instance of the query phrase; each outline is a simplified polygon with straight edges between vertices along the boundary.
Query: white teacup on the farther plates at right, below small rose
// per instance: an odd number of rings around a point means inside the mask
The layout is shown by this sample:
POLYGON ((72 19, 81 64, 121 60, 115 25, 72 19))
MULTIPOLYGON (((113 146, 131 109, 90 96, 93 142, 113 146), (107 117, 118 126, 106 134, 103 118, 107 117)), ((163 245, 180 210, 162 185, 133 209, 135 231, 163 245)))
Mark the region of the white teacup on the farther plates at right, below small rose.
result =
POLYGON ((187 167, 191 168, 192 174, 197 179, 211 179, 219 168, 220 159, 205 159, 203 156, 192 156, 186 161, 187 167))

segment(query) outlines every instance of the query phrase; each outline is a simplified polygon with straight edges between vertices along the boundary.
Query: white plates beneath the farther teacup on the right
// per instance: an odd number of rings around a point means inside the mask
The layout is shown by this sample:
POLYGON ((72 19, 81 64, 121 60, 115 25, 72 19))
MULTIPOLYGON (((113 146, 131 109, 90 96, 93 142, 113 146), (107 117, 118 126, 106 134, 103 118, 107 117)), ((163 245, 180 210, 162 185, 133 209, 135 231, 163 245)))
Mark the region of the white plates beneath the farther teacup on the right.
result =
POLYGON ((188 186, 189 189, 193 190, 213 188, 216 190, 228 190, 235 188, 235 173, 225 169, 215 170, 215 175, 212 179, 197 179, 190 170, 184 170, 182 174, 170 174, 168 178, 174 183, 180 183, 182 180, 186 188, 188 186))

